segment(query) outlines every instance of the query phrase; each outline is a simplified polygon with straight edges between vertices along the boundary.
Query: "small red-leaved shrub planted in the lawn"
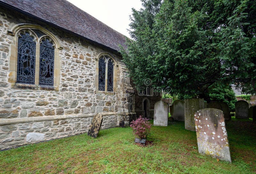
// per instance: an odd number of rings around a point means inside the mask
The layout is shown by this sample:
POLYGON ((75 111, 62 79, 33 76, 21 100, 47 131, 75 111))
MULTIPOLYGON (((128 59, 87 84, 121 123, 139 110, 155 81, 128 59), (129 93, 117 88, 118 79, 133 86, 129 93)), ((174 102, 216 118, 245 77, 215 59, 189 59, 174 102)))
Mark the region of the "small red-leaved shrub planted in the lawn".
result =
POLYGON ((151 124, 148 120, 148 118, 142 118, 142 116, 140 115, 139 118, 131 122, 130 127, 132 127, 133 129, 133 133, 137 135, 140 139, 146 139, 149 134, 151 124))

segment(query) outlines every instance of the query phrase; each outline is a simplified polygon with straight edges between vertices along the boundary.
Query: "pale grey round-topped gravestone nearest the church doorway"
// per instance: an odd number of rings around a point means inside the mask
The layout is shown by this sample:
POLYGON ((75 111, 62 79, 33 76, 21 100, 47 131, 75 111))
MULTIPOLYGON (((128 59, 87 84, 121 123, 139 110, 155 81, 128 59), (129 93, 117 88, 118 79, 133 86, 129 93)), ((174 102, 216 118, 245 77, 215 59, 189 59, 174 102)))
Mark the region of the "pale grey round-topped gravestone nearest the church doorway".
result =
POLYGON ((168 123, 168 104, 162 100, 154 106, 154 126, 167 126, 168 123))

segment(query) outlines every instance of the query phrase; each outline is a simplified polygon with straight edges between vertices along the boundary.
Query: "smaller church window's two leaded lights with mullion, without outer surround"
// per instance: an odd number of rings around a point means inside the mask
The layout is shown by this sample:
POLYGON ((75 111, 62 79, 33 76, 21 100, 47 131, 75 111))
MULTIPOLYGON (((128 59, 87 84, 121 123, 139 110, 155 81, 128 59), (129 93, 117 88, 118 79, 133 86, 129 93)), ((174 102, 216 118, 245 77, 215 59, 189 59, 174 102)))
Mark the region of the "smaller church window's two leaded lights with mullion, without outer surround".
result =
POLYGON ((99 91, 114 91, 114 60, 108 55, 102 55, 99 58, 99 91))

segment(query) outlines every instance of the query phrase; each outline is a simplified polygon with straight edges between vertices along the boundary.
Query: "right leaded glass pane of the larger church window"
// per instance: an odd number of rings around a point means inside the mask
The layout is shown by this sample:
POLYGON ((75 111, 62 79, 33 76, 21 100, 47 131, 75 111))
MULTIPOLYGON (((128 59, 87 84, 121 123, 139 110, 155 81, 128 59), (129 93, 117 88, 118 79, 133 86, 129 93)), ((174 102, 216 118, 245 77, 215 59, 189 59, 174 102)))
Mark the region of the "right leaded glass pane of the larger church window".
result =
POLYGON ((53 86, 54 48, 49 39, 40 44, 39 85, 53 86))

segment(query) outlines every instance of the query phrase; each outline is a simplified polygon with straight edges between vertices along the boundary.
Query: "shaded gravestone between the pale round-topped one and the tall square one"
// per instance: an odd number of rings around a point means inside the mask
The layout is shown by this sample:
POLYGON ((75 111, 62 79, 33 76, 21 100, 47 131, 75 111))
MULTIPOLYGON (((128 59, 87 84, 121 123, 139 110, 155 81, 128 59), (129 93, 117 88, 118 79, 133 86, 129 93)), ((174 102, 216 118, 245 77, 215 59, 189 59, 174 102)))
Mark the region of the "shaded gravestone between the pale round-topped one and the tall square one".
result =
POLYGON ((184 101, 175 100, 172 103, 172 117, 177 121, 185 121, 184 101))

